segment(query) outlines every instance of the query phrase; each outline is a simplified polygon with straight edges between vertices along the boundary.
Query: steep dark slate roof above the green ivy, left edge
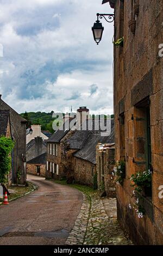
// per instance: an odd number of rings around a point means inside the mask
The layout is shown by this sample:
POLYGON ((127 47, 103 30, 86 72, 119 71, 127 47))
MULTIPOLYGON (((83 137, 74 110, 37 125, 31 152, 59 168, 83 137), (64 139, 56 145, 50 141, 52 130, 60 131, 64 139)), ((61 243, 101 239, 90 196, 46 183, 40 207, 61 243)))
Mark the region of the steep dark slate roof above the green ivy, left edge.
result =
POLYGON ((9 116, 10 116, 9 109, 0 109, 0 136, 6 135, 9 116))

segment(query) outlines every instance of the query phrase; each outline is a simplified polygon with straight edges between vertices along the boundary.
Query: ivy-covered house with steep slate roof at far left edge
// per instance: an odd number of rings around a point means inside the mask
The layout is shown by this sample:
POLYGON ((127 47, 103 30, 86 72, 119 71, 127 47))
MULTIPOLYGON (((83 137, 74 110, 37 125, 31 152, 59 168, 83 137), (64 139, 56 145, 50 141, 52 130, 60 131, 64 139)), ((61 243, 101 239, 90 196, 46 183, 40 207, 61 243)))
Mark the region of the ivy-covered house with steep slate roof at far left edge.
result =
MULTIPOLYGON (((10 124, 10 111, 9 109, 0 109, 0 136, 10 138, 11 135, 11 124, 10 124)), ((12 182, 12 169, 8 175, 8 185, 12 182)))

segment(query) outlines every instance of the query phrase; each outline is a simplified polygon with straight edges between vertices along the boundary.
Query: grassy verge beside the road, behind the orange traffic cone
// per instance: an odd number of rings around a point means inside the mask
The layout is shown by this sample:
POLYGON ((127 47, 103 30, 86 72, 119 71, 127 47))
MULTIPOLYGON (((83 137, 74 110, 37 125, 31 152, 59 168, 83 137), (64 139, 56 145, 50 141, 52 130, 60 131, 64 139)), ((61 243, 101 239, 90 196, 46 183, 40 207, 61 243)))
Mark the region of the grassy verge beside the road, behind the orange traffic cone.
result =
MULTIPOLYGON (((10 186, 8 189, 10 192, 10 196, 8 196, 8 200, 14 200, 16 198, 22 197, 27 193, 30 193, 36 189, 36 187, 30 183, 27 182, 28 186, 10 186)), ((3 199, 0 199, 0 203, 3 202, 3 199)))

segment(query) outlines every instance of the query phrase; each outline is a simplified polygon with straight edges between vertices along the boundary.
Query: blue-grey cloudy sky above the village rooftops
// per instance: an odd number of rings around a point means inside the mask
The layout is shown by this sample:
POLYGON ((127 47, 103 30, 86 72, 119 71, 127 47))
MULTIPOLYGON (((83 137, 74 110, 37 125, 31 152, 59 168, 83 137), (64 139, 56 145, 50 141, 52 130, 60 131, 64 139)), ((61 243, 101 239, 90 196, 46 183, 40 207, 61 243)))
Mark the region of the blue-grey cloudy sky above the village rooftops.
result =
POLYGON ((96 13, 102 0, 0 0, 0 93, 18 113, 87 106, 112 111, 113 23, 104 20, 97 46, 96 13))

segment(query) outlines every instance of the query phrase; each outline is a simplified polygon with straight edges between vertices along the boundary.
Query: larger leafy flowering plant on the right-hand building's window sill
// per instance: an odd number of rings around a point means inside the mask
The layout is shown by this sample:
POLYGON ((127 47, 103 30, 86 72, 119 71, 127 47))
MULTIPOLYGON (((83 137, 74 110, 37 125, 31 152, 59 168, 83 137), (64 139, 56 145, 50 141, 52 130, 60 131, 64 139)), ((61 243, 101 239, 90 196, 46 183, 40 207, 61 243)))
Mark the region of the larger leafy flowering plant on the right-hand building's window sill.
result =
POLYGON ((151 170, 146 170, 145 172, 137 172, 131 175, 131 184, 135 188, 135 191, 142 192, 142 189, 145 187, 152 187, 152 172, 151 170))

